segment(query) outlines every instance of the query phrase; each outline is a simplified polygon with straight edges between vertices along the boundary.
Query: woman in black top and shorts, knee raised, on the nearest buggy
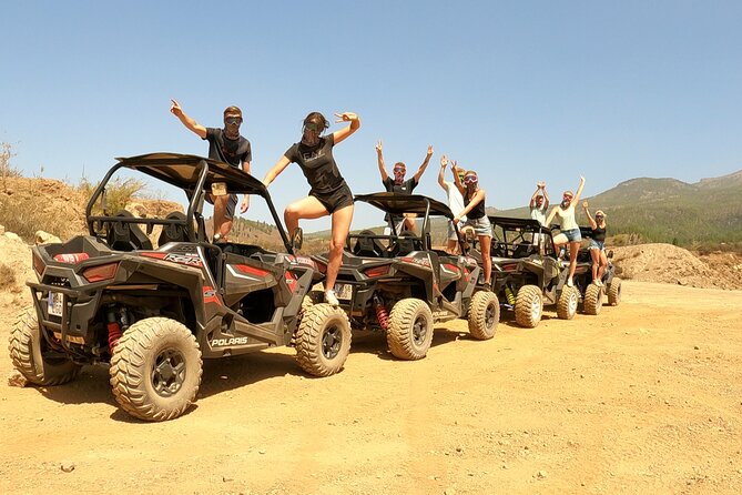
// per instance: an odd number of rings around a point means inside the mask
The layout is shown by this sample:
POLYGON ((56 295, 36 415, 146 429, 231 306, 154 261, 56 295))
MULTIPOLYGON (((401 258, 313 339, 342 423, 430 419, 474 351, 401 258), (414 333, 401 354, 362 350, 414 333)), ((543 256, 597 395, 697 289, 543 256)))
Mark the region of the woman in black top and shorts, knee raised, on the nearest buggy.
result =
POLYGON ((304 119, 302 140, 294 143, 281 156, 263 179, 267 188, 289 163, 296 163, 309 183, 309 195, 286 206, 284 221, 296 249, 302 244, 301 219, 332 218, 329 260, 325 277, 325 302, 337 306, 337 295, 333 287, 343 261, 343 246, 353 220, 353 193, 340 175, 333 158, 333 148, 360 128, 358 115, 353 112, 336 113, 335 122, 350 122, 350 125, 322 135, 329 127, 319 112, 309 113, 304 119))

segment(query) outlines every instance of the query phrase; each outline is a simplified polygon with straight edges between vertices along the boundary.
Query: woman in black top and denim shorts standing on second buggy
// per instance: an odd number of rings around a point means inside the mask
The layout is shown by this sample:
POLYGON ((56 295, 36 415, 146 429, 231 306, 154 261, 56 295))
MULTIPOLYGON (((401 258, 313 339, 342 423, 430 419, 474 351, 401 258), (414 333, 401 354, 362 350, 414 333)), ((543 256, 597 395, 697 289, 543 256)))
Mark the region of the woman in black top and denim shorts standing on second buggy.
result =
POLYGON ((474 170, 467 170, 464 173, 464 180, 459 175, 458 164, 454 164, 454 178, 456 188, 464 196, 464 210, 454 213, 454 223, 461 222, 466 216, 461 230, 472 228, 479 239, 479 250, 481 252, 481 264, 485 269, 485 285, 490 285, 492 273, 492 259, 488 255, 492 243, 492 224, 489 223, 487 211, 485 209, 486 192, 479 188, 479 178, 474 170))

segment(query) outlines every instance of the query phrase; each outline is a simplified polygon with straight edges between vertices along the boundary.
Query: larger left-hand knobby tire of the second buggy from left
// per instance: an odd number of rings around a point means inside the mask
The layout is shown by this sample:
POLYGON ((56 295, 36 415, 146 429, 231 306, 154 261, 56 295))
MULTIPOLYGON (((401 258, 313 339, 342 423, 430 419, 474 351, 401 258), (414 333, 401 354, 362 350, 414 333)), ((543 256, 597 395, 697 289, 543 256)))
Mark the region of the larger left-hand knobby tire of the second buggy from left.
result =
POLYGON ((433 313, 425 301, 408 297, 398 301, 389 314, 386 343, 400 360, 421 360, 433 342, 433 313))

